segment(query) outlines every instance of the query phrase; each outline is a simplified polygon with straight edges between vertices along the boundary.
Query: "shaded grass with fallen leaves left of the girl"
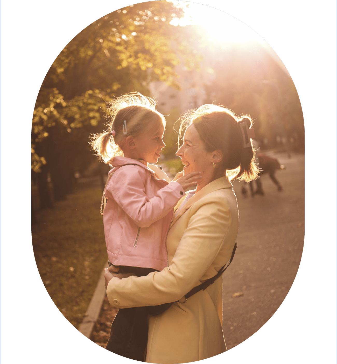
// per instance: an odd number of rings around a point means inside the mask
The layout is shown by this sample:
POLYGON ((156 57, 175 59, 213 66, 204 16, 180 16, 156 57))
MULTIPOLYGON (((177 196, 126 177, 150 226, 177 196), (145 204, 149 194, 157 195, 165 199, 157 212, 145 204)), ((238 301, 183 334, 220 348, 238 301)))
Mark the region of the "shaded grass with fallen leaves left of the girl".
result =
POLYGON ((75 327, 81 324, 107 261, 102 190, 90 188, 36 213, 32 226, 36 265, 48 294, 75 327))

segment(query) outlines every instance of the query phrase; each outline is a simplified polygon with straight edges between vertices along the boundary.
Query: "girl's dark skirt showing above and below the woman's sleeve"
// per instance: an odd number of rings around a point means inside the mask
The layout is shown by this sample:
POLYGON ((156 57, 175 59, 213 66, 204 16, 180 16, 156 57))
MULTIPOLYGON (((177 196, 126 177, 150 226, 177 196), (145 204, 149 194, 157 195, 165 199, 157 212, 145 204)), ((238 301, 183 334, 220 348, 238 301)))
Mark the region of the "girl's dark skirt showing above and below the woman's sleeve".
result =
MULTIPOLYGON (((151 272, 158 271, 120 265, 118 273, 134 273, 141 277, 151 272)), ((146 316, 146 307, 120 308, 111 325, 106 349, 129 359, 145 361, 144 352, 149 329, 146 316)))

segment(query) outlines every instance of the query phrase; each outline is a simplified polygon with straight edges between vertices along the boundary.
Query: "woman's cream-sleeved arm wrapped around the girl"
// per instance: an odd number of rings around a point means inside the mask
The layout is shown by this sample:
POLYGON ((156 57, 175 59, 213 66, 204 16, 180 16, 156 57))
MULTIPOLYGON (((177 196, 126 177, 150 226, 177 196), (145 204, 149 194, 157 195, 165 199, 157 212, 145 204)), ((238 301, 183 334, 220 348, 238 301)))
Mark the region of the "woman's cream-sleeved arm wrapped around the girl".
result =
POLYGON ((215 268, 229 260, 235 244, 235 238, 227 239, 230 208, 226 200, 216 197, 191 216, 170 266, 145 277, 110 280, 107 297, 111 305, 125 308, 177 301, 201 279, 215 276, 215 268))

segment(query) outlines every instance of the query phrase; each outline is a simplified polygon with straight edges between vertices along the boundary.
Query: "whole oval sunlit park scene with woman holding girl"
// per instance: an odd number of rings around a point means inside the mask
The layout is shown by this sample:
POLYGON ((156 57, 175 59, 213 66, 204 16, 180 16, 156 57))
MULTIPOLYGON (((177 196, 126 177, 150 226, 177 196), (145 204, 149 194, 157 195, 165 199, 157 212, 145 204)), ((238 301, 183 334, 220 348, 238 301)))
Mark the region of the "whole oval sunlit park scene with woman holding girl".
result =
POLYGON ((301 260, 304 123, 287 64, 269 29, 189 1, 91 21, 32 117, 40 285, 115 355, 220 355, 273 316, 301 260))

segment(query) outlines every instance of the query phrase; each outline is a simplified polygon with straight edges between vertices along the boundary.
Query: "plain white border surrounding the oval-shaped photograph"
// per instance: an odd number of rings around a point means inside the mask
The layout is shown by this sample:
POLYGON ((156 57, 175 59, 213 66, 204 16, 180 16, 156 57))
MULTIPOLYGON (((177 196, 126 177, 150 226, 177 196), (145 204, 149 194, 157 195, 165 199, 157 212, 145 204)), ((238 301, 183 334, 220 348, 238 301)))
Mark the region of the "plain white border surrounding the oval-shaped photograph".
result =
MULTIPOLYGON (((32 0, 2 5, 4 363, 131 363, 87 340, 52 303, 32 252, 29 194, 31 119, 44 75, 79 31, 130 3, 32 0)), ((307 161, 306 238, 293 287, 262 329, 227 353, 204 362, 335 363, 336 193, 334 178, 329 178, 336 165, 335 2, 199 3, 225 11, 249 25, 282 59, 302 103, 307 161), (324 179, 319 178, 318 168, 324 179)))

